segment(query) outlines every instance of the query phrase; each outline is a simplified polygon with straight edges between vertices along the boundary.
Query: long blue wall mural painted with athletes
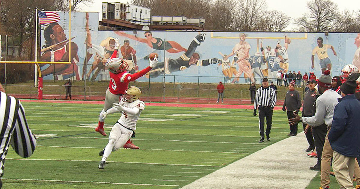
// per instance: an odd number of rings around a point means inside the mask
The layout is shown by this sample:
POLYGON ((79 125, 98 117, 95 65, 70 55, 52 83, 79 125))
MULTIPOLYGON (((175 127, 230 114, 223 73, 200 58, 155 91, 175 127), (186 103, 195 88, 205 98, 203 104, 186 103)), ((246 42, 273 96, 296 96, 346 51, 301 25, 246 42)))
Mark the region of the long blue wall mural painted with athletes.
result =
MULTIPOLYGON (((67 12, 60 21, 41 27, 41 60, 68 61, 67 12)), ((345 64, 360 68, 360 33, 300 32, 189 32, 189 31, 98 31, 98 13, 71 15, 72 64, 44 64, 45 80, 107 80, 107 59, 120 39, 120 58, 129 71, 148 66, 148 55, 159 54, 159 64, 138 81, 250 82, 276 78, 278 71, 320 76, 325 69, 340 75, 345 64), (55 74, 53 74, 55 72, 55 74), (185 77, 193 76, 193 77, 185 77), (240 78, 237 78, 240 77, 240 78), (196 79, 195 79, 196 78, 196 79)))

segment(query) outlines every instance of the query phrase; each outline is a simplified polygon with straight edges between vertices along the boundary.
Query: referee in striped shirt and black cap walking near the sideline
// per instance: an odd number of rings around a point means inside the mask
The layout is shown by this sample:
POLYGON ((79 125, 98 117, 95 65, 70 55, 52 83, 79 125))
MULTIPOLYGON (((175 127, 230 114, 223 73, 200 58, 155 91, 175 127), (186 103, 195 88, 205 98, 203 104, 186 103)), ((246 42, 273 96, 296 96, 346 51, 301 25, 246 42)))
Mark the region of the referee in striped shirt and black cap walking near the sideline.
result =
POLYGON ((256 90, 254 102, 254 116, 256 116, 256 109, 259 106, 259 129, 260 140, 259 143, 264 142, 264 122, 266 117, 266 140, 270 141, 270 130, 273 119, 273 109, 276 103, 275 90, 269 87, 267 78, 262 79, 262 86, 256 90))

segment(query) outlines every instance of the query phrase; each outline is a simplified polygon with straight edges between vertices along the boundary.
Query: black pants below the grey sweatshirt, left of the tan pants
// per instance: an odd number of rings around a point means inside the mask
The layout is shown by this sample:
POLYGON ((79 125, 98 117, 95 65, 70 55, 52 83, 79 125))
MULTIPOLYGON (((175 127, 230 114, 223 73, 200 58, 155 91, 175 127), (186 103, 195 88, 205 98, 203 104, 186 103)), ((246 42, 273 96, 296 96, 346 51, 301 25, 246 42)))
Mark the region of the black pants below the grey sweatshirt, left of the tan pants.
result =
POLYGON ((316 148, 316 153, 318 154, 318 164, 321 162, 321 154, 323 153, 325 136, 328 132, 328 126, 323 123, 323 125, 319 125, 317 127, 311 127, 312 135, 314 135, 314 143, 316 148))

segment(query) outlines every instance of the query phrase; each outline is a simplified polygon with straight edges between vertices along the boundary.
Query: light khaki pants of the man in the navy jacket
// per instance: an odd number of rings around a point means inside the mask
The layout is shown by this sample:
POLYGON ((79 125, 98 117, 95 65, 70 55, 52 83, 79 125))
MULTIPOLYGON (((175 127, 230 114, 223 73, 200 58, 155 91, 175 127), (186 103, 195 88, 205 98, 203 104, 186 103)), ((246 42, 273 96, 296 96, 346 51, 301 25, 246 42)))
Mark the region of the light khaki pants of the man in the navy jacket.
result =
POLYGON ((354 175, 355 161, 355 157, 347 157, 334 151, 333 170, 341 189, 354 189, 352 175, 354 175))

